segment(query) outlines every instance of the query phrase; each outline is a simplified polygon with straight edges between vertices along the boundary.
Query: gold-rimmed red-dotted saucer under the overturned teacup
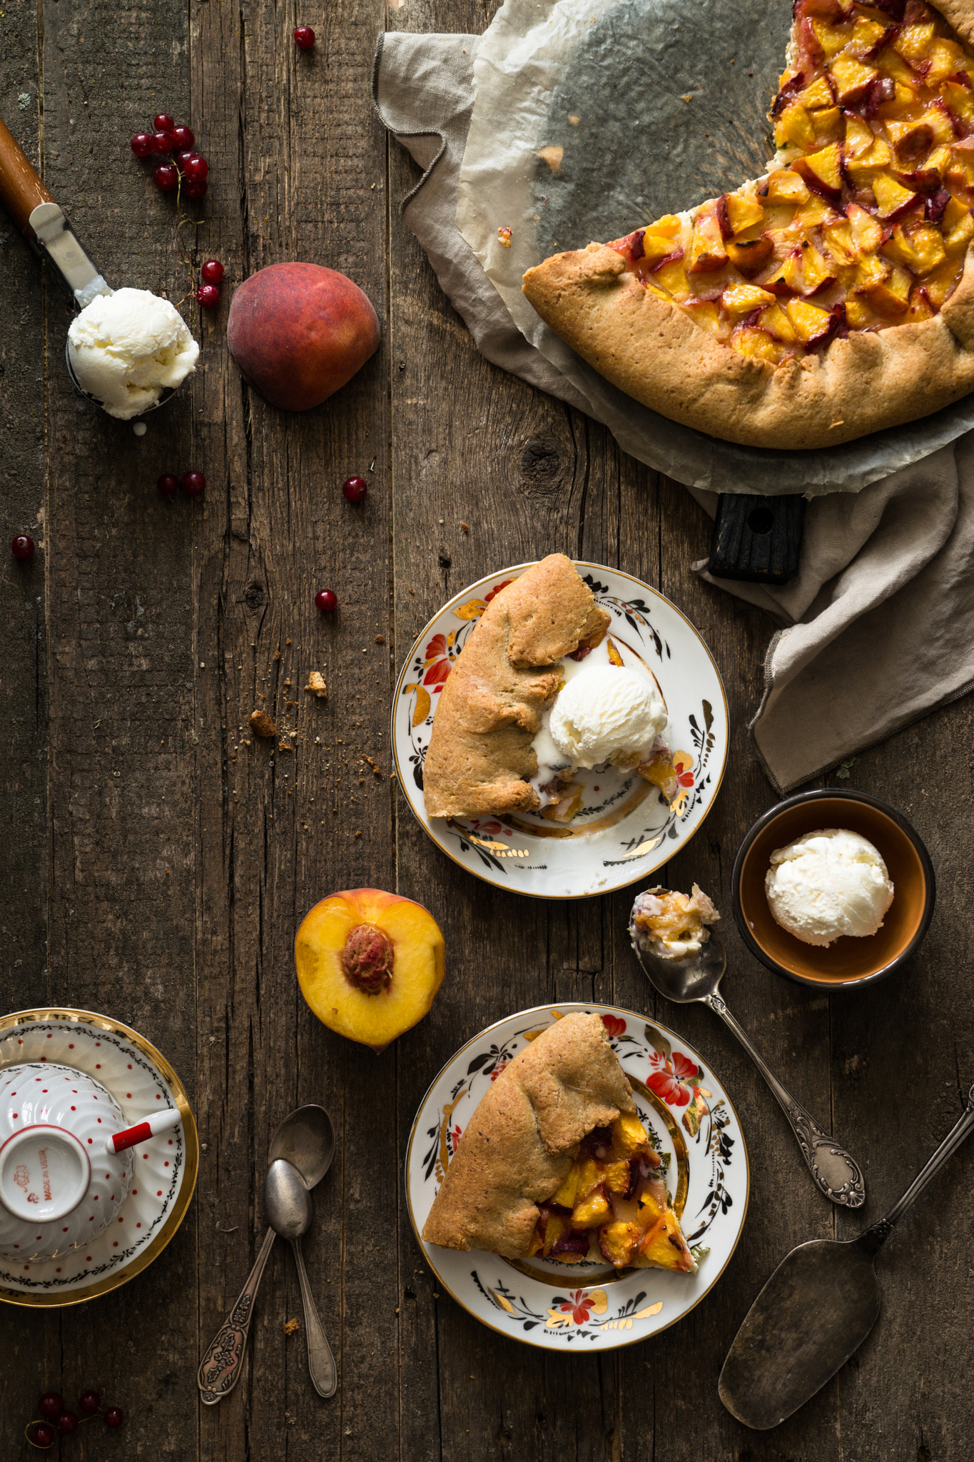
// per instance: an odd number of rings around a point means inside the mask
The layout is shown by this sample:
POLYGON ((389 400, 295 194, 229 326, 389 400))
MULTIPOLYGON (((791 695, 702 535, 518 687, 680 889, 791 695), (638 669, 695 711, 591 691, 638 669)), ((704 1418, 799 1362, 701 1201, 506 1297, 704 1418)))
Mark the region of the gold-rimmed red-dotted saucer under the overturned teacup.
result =
POLYGON ((145 1037, 89 1010, 20 1010, 0 1019, 0 1070, 57 1061, 101 1082, 126 1121, 178 1107, 183 1121, 139 1143, 131 1192, 108 1231, 55 1259, 0 1260, 0 1300, 77 1304, 126 1284, 159 1254, 183 1222, 199 1168, 196 1121, 178 1076, 145 1037))

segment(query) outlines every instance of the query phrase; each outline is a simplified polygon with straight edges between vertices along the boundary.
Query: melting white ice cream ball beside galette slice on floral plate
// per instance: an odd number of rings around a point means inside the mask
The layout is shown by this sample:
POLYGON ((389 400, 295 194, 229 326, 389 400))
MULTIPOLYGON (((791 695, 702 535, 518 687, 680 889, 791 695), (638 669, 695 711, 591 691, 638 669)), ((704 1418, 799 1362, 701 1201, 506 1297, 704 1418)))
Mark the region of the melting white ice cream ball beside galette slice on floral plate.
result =
POLYGON ((572 766, 635 766, 666 725, 663 697, 624 665, 583 664, 558 693, 548 730, 572 766))

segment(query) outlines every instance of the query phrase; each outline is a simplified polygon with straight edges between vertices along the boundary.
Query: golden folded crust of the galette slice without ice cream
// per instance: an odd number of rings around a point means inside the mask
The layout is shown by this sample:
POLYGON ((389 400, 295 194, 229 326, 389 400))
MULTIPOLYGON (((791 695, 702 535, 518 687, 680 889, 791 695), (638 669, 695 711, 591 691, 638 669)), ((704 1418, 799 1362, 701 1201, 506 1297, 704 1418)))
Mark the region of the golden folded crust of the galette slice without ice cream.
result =
POLYGON ((434 1199, 423 1241, 526 1256, 537 1205, 558 1192, 581 1139, 622 1111, 635 1111, 635 1102, 602 1019, 556 1020, 480 1098, 434 1199))

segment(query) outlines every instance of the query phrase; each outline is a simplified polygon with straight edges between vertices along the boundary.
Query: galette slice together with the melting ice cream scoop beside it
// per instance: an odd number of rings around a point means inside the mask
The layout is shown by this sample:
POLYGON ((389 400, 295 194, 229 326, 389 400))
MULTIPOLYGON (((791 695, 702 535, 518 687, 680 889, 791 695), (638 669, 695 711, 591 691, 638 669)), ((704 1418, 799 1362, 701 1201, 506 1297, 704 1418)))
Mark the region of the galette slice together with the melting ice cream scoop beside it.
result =
POLYGON ((450 671, 423 765, 431 817, 536 811, 568 822, 578 768, 635 770, 678 792, 666 705, 625 665, 571 558, 549 554, 496 594, 450 671))

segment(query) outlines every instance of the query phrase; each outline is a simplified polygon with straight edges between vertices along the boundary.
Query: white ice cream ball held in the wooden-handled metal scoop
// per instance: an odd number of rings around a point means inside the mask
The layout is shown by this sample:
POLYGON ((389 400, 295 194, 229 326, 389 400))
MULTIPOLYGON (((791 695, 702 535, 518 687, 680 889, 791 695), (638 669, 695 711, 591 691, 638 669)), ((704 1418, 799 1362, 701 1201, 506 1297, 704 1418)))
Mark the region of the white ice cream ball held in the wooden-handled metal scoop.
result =
POLYGON ((82 390, 130 421, 196 370, 200 346, 168 300, 149 289, 96 295, 72 322, 67 352, 82 390))

